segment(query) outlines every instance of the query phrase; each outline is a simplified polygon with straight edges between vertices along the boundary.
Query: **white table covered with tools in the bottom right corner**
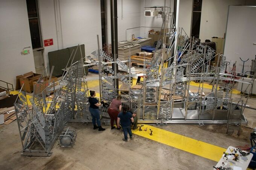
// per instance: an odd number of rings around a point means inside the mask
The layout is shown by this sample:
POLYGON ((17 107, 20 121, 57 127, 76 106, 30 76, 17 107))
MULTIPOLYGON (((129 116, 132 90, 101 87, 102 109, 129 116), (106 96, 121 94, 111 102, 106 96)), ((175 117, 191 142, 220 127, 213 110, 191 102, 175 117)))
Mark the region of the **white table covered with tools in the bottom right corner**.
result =
MULTIPOLYGON (((235 153, 235 149, 237 149, 236 147, 233 146, 229 146, 228 149, 226 150, 227 153, 235 153), (234 150, 233 152, 231 152, 231 150, 234 150)), ((237 152, 239 153, 239 152, 237 152)), ((232 168, 232 170, 246 170, 248 165, 251 162, 251 159, 253 158, 253 154, 250 153, 247 156, 239 156, 238 161, 234 161, 233 158, 235 158, 234 155, 228 155, 227 156, 227 161, 224 159, 224 154, 222 155, 221 159, 219 160, 219 162, 215 165, 215 167, 225 167, 224 165, 222 165, 222 162, 227 163, 225 168, 232 168), (245 160, 247 159, 247 160, 245 160)), ((215 168, 213 168, 215 169, 215 168)), ((216 170, 216 169, 215 169, 216 170)))

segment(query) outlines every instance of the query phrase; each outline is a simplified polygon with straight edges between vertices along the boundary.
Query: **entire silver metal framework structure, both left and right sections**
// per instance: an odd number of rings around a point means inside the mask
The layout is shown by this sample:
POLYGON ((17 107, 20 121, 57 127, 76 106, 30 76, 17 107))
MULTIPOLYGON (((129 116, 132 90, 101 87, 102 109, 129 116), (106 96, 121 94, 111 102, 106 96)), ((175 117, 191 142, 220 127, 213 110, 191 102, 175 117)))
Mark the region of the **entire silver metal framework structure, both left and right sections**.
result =
MULTIPOLYGON (((120 94, 122 102, 128 103, 136 112, 138 123, 222 123, 227 124, 227 132, 235 125, 239 134, 240 125, 247 123, 243 112, 255 74, 250 82, 240 80, 234 69, 236 62, 230 62, 227 70, 225 56, 198 39, 189 38, 183 29, 177 30, 173 14, 168 10, 162 16, 163 39, 158 39, 152 61, 144 60, 143 73, 132 73, 131 59, 120 61, 116 55, 99 47, 84 58, 78 45, 58 85, 49 79, 49 85, 42 90, 42 77, 34 85, 34 96, 30 98, 32 110, 21 88, 14 107, 24 156, 50 156, 50 150, 67 122, 91 122, 84 70, 88 65, 99 67, 100 101, 110 103, 120 94), (168 44, 166 35, 169 35, 168 44), (81 60, 73 63, 78 49, 81 60), (212 66, 215 57, 218 60, 216 66, 212 66), (91 64, 84 64, 85 60, 91 64), (113 70, 108 64, 116 67, 113 70), (150 67, 145 68, 146 64, 150 67), (132 88, 133 77, 137 76, 143 77, 141 89, 132 88), (116 80, 128 90, 120 90, 116 80), (191 81, 198 82, 196 90, 191 89, 191 81), (232 96, 235 82, 247 84, 240 99, 232 96), (209 84, 212 85, 210 89, 209 84), (49 97, 51 93, 53 99, 49 97)), ((109 124, 107 108, 102 106, 100 111, 103 122, 109 124)))

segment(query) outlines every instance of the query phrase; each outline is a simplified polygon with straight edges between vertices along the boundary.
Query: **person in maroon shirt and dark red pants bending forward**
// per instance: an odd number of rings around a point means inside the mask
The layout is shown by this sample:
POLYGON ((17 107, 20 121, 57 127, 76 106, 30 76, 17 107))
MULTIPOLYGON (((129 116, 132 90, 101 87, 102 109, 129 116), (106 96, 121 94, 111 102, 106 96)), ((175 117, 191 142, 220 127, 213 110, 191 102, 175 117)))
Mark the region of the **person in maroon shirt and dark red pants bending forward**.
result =
MULTIPOLYGON (((122 99, 122 96, 118 95, 116 99, 112 100, 108 108, 108 115, 110 116, 111 129, 116 128, 114 126, 114 120, 116 121, 116 125, 117 125, 117 115, 122 109, 121 99, 122 99)), ((117 129, 120 129, 120 128, 117 127, 117 129)))

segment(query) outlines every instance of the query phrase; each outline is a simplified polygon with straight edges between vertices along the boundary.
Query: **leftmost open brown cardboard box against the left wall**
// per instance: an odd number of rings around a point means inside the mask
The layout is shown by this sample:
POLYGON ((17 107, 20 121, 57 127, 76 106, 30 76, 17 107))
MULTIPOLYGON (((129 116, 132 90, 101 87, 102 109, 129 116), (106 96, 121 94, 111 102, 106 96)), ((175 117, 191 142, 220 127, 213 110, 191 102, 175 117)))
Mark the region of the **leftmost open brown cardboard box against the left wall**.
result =
POLYGON ((29 73, 23 74, 23 77, 20 78, 20 87, 23 86, 23 90, 32 93, 33 92, 33 82, 37 81, 41 77, 41 74, 36 74, 30 71, 29 73))

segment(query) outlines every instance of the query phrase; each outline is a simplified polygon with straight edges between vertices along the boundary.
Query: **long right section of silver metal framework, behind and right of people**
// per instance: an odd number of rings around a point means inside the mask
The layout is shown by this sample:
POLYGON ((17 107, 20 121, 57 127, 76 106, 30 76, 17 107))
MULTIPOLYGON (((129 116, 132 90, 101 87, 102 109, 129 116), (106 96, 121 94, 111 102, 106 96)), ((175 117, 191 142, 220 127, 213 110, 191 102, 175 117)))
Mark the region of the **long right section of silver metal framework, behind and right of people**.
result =
MULTIPOLYGON (((225 72, 226 57, 200 43, 198 39, 189 38, 183 29, 177 31, 172 16, 171 13, 164 15, 163 40, 158 39, 151 63, 144 63, 150 67, 144 67, 144 73, 140 74, 144 77, 140 90, 131 88, 131 80, 138 74, 131 74, 130 61, 120 61, 102 50, 95 50, 87 56, 92 63, 99 66, 101 100, 111 102, 121 94, 123 102, 128 103, 137 113, 139 123, 229 124, 230 115, 236 112, 241 114, 239 123, 236 124, 247 123, 242 113, 249 93, 244 93, 237 103, 232 99, 234 83, 242 81, 239 80, 241 77, 236 76, 235 64, 231 61, 228 72, 225 72), (165 55, 168 55, 166 62, 165 55), (218 58, 216 66, 211 65, 214 58, 218 58), (117 64, 119 70, 126 74, 116 73, 107 67, 107 63, 117 64), (120 79, 129 89, 129 93, 124 94, 114 88, 114 79, 120 79), (190 91, 191 81, 198 82, 198 90, 190 91), (209 83, 212 84, 210 90, 209 87, 204 87, 209 83)), ((242 81, 248 85, 247 91, 250 91, 253 80, 254 78, 251 82, 242 81)), ((108 117, 106 108, 102 108, 102 114, 108 117)))

